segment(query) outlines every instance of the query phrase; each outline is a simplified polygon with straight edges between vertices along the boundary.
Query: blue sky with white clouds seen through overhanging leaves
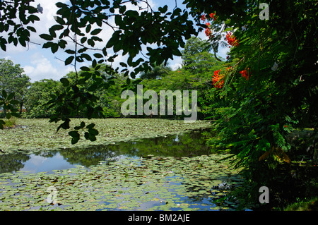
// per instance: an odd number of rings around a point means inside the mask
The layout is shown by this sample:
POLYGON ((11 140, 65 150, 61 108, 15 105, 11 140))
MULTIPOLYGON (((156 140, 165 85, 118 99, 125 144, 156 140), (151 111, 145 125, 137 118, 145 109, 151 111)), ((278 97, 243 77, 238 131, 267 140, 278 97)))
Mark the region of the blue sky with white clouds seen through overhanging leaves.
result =
MULTIPOLYGON (((57 11, 55 4, 59 1, 67 2, 68 0, 35 0, 33 5, 37 6, 37 4, 40 4, 43 8, 43 13, 37 14, 37 16, 40 17, 40 22, 35 24, 37 35, 47 33, 47 30, 55 24, 54 15, 57 11)), ((183 0, 177 0, 177 6, 183 9, 184 6, 182 6, 182 1, 183 0)), ((167 5, 171 10, 175 7, 175 0, 148 0, 148 3, 151 4, 154 10, 159 6, 165 5, 167 5)), ((59 80, 66 75, 66 73, 69 73, 69 71, 74 71, 73 66, 64 66, 64 62, 59 60, 64 60, 68 56, 64 54, 64 50, 52 54, 50 49, 42 49, 42 44, 44 42, 37 35, 32 36, 31 41, 39 43, 40 45, 30 43, 27 48, 9 45, 7 46, 6 51, 2 51, 0 49, 0 59, 10 59, 13 61, 13 63, 20 64, 20 66, 24 69, 25 74, 31 78, 31 82, 45 78, 59 80)), ((105 36, 105 40, 107 40, 107 37, 111 37, 112 30, 110 28, 105 29, 102 31, 102 35, 103 37, 105 36)), ((199 37, 206 39, 204 32, 201 32, 199 37)), ((220 51, 220 56, 223 56, 223 58, 225 57, 226 50, 228 49, 220 51)), ((125 61, 125 59, 126 56, 118 56, 113 66, 119 66, 119 62, 125 61)), ((180 57, 175 57, 174 60, 169 61, 169 65, 172 67, 172 69, 177 69, 179 66, 181 66, 181 63, 182 60, 180 57)))

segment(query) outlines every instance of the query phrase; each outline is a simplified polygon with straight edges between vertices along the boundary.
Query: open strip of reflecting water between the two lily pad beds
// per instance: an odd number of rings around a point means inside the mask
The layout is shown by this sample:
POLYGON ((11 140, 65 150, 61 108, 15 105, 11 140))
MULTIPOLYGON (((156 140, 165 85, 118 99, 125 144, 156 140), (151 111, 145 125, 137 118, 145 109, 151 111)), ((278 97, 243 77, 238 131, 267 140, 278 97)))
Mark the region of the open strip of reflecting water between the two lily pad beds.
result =
POLYGON ((205 145, 206 132, 196 130, 182 135, 144 139, 138 142, 117 142, 114 145, 76 147, 35 154, 6 154, 1 156, 0 173, 29 171, 49 172, 57 169, 71 169, 76 165, 91 166, 100 161, 119 160, 123 157, 194 157, 209 154, 205 145))

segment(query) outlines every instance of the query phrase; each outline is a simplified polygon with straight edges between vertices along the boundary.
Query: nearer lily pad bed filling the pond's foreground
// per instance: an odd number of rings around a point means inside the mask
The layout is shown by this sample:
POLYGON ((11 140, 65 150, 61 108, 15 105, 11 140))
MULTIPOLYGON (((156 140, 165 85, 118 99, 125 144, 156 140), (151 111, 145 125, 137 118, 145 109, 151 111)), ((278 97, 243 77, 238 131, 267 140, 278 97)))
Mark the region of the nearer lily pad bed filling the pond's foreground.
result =
POLYGON ((240 185, 218 154, 105 160, 54 174, 0 174, 0 210, 220 210, 240 185))

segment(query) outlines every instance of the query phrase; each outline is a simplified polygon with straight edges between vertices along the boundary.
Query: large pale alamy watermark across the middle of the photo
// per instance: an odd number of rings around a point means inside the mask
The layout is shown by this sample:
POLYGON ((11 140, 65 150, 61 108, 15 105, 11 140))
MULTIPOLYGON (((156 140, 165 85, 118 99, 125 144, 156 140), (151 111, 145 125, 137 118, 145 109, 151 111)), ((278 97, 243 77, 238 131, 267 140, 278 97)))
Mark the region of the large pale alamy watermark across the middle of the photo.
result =
POLYGON ((175 114, 180 116, 182 112, 185 123, 193 123, 197 118, 197 91, 192 90, 191 92, 191 104, 189 104, 189 90, 160 90, 158 104, 158 93, 154 90, 147 90, 143 93, 143 85, 137 85, 137 94, 131 90, 124 90, 122 92, 122 99, 126 101, 122 104, 122 114, 127 115, 173 115, 174 114, 174 103, 175 103, 175 114), (128 99, 126 99, 128 97, 128 99), (174 102, 175 98, 175 102, 174 102), (143 104, 143 99, 149 99, 143 104), (166 104, 167 99, 167 104, 166 104), (136 107, 137 105, 137 107, 136 107), (159 106, 159 111, 158 111, 159 106), (190 109, 191 107, 191 109, 190 109), (137 109, 136 109, 137 108, 137 109))

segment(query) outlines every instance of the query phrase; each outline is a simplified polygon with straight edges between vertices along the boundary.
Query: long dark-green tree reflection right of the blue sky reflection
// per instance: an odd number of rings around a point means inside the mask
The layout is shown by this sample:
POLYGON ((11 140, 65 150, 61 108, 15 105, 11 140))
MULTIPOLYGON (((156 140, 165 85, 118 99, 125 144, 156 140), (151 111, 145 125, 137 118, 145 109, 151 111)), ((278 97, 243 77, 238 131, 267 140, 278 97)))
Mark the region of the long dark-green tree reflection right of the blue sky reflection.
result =
POLYGON ((59 150, 61 156, 71 164, 90 166, 100 161, 119 156, 146 157, 149 154, 161 157, 192 157, 208 154, 206 138, 199 132, 183 135, 149 138, 136 142, 118 142, 116 145, 95 145, 90 147, 59 150))

